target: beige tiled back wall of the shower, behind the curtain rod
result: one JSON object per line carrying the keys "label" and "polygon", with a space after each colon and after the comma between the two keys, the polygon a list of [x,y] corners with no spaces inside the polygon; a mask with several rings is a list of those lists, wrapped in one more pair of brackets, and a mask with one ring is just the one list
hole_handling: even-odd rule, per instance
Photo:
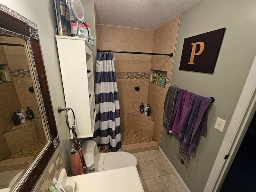
{"label": "beige tiled back wall of the shower, behind the curtain rod", "polygon": [[[153,30],[97,25],[97,48],[132,52],[152,52]],[[150,72],[151,56],[114,53],[116,72]],[[138,80],[138,84],[137,84]],[[145,84],[146,81],[146,84]],[[139,111],[148,98],[149,79],[117,79],[121,128],[127,126],[127,113]],[[134,88],[140,86],[139,91]]]}

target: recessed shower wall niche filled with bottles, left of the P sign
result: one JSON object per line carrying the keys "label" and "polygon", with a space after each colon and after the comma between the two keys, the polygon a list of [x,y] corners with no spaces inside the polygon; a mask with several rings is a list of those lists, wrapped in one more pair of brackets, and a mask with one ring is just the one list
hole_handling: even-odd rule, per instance
{"label": "recessed shower wall niche filled with bottles, left of the P sign", "polygon": [[167,71],[151,70],[149,82],[160,87],[165,87]]}

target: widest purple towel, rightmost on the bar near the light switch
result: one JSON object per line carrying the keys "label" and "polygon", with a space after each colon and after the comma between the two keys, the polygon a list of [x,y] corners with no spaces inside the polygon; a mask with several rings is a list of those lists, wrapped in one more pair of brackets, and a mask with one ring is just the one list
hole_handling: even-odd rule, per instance
{"label": "widest purple towel, rightmost on the bar near the light switch", "polygon": [[196,94],[190,98],[178,137],[178,142],[183,149],[189,149],[190,155],[196,149],[199,134],[206,136],[206,109],[210,102],[210,98]]}

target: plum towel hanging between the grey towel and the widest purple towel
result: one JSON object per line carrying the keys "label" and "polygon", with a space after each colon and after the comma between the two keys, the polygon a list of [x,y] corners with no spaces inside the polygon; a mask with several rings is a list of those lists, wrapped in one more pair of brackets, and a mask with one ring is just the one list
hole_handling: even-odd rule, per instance
{"label": "plum towel hanging between the grey towel and the widest purple towel", "polygon": [[191,95],[191,92],[188,92],[184,89],[181,89],[179,91],[176,105],[174,108],[172,122],[167,129],[167,131],[171,130],[172,134],[176,137],[178,137],[180,134],[181,124],[183,122],[183,118],[188,107]]}

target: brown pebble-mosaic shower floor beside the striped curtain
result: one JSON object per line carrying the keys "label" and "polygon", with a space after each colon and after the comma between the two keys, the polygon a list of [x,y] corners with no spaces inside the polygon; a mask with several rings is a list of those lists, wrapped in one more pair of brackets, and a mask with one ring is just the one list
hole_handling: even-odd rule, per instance
{"label": "brown pebble-mosaic shower floor beside the striped curtain", "polygon": [[130,129],[121,129],[121,145],[142,143],[154,141],[151,137],[147,137],[141,133],[136,133]]}

